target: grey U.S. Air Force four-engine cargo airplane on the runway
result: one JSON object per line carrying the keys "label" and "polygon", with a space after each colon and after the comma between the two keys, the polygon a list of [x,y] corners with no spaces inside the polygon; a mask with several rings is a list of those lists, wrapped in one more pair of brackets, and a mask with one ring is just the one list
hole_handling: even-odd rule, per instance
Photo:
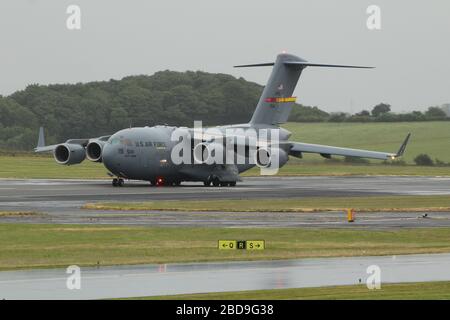
{"label": "grey U.S. Air Force four-engine cargo airplane on the runway", "polygon": [[[223,133],[226,139],[239,135],[245,137],[246,129],[275,130],[278,141],[272,147],[276,148],[277,152],[273,154],[276,154],[276,162],[279,167],[286,164],[289,156],[301,158],[303,153],[316,153],[325,158],[336,155],[380,160],[396,159],[403,155],[410,134],[406,136],[396,153],[389,153],[289,141],[291,133],[279,126],[288,119],[295,102],[292,93],[306,67],[369,67],[310,63],[286,53],[279,54],[275,62],[235,67],[258,66],[273,66],[269,81],[250,122],[215,127],[216,131]],[[207,164],[194,161],[194,163],[176,164],[171,159],[171,152],[179,141],[173,141],[171,137],[177,129],[179,128],[166,125],[135,127],[120,130],[111,136],[70,139],[61,144],[45,146],[43,128],[41,128],[35,151],[52,151],[56,162],[62,165],[78,164],[85,158],[93,162],[101,162],[113,178],[113,186],[122,186],[124,179],[149,181],[152,185],[179,185],[182,181],[202,181],[205,186],[211,184],[213,186],[235,186],[236,182],[240,181],[239,173],[255,165],[270,167],[273,160],[272,155],[268,152],[267,144],[263,146],[257,143],[254,162]],[[181,129],[188,134],[193,133],[192,128]],[[211,146],[217,147],[218,143],[213,140],[211,137],[202,138],[202,152],[205,150],[212,152],[209,150]],[[245,148],[244,157],[248,158],[250,157],[248,146]],[[236,151],[236,149],[234,150]],[[262,154],[265,154],[265,157]]]}

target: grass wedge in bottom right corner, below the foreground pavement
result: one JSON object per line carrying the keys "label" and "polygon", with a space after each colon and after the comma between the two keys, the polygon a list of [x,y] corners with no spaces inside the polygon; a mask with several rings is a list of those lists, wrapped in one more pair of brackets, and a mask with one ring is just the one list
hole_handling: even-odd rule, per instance
{"label": "grass wedge in bottom right corner, below the foreground pavement", "polygon": [[379,290],[365,285],[274,289],[240,292],[142,297],[145,300],[448,300],[450,282],[382,284]]}

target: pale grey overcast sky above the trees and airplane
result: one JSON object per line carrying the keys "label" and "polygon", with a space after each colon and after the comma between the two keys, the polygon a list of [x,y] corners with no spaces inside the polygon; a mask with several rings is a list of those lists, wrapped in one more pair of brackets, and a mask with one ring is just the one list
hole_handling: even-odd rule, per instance
{"label": "pale grey overcast sky above the trees and airplane", "polygon": [[[81,30],[66,9],[81,8]],[[381,8],[381,30],[366,9]],[[450,102],[448,0],[2,0],[0,94],[28,84],[76,83],[202,70],[265,84],[286,50],[318,63],[375,70],[308,68],[297,101],[357,112],[383,101],[396,112]]]}

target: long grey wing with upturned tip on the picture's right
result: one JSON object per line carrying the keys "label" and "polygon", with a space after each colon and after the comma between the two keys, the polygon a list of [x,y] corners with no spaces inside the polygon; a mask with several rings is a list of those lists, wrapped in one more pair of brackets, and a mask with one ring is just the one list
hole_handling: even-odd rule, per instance
{"label": "long grey wing with upturned tip on the picture's right", "polygon": [[333,146],[326,146],[320,144],[309,144],[301,142],[288,142],[290,143],[289,154],[295,157],[301,157],[302,153],[318,153],[322,157],[331,158],[332,155],[336,156],[347,156],[347,157],[358,157],[358,158],[369,158],[369,159],[379,159],[379,160],[393,160],[401,157],[405,152],[406,145],[411,134],[409,133],[399,150],[396,153],[389,152],[378,152],[362,149],[351,149],[351,148],[340,148]]}

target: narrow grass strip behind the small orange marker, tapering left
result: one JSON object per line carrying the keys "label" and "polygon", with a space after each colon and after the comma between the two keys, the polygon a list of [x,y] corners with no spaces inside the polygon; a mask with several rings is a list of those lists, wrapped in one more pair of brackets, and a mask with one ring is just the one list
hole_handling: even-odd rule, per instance
{"label": "narrow grass strip behind the small orange marker, tapering left", "polygon": [[450,211],[450,196],[302,197],[288,199],[158,200],[88,203],[93,210],[169,210],[218,212]]}

